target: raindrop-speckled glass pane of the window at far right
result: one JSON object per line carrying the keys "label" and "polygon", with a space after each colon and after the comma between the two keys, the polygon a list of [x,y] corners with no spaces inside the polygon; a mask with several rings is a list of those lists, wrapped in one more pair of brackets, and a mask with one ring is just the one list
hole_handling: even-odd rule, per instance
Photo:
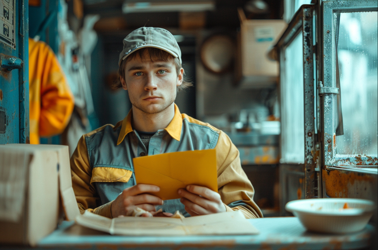
{"label": "raindrop-speckled glass pane of the window at far right", "polygon": [[378,152],[377,12],[340,14],[338,62],[344,135],[336,154]]}

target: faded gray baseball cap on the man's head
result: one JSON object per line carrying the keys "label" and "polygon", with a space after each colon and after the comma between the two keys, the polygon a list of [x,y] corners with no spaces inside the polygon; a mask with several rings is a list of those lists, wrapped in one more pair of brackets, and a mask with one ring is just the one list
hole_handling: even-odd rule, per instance
{"label": "faded gray baseball cap on the man's head", "polygon": [[123,50],[119,54],[118,65],[136,50],[145,47],[159,48],[167,51],[181,62],[181,50],[175,37],[162,28],[142,27],[132,31],[123,39]]}

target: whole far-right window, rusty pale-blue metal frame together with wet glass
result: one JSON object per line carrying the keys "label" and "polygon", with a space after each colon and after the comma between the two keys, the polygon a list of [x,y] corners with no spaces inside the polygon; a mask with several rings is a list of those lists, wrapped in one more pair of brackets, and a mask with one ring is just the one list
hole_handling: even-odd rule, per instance
{"label": "whole far-right window, rusty pale-blue metal frame together with wet glass", "polygon": [[[327,1],[322,39],[324,164],[377,165],[377,3]],[[341,100],[341,102],[340,102]],[[358,169],[356,169],[358,170]]]}

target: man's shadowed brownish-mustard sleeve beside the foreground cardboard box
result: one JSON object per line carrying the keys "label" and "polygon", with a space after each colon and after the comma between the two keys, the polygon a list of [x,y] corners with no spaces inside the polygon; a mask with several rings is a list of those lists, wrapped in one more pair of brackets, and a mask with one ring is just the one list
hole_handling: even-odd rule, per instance
{"label": "man's shadowed brownish-mustard sleeve beside the foreground cardboard box", "polygon": [[80,213],[89,210],[95,214],[112,218],[110,210],[112,202],[98,206],[100,197],[98,196],[95,187],[91,184],[92,167],[89,163],[87,144],[85,143],[84,135],[77,143],[77,147],[71,156],[70,164],[72,187]]}

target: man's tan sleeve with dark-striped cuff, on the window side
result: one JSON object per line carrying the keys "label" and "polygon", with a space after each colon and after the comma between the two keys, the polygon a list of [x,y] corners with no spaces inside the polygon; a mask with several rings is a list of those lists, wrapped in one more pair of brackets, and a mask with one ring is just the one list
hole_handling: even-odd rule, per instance
{"label": "man's tan sleeve with dark-striped cuff, on the window side", "polygon": [[217,145],[218,193],[226,211],[240,210],[246,218],[262,217],[260,208],[253,201],[254,188],[240,164],[239,150],[223,131]]}

